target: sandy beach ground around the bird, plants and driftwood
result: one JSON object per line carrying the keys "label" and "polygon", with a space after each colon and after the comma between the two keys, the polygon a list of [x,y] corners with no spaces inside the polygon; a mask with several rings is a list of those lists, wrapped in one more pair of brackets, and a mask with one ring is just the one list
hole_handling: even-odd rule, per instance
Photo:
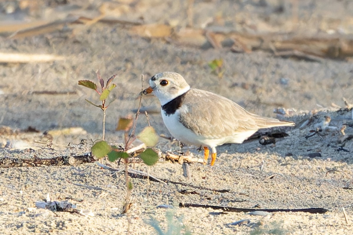
{"label": "sandy beach ground around the bird, plants and driftwood", "polygon": [[[130,3],[130,8],[120,13],[121,18],[143,17],[147,23],[173,23],[176,28],[187,25],[184,1],[137,2]],[[330,4],[326,4],[328,2]],[[4,3],[1,4],[4,7]],[[246,25],[263,26],[265,22],[268,26],[265,29],[269,31],[286,32],[293,20],[291,6],[292,1],[195,1],[193,27],[201,27],[213,18],[218,20],[214,21],[215,25],[237,28],[239,25],[234,22],[243,19]],[[283,7],[283,12],[275,13],[276,9],[281,9],[279,7]],[[94,6],[85,10],[92,11],[92,8]],[[341,33],[353,32],[347,23],[351,22],[348,19],[353,11],[350,1],[312,1],[311,5],[300,3],[298,9],[298,30],[315,32],[333,28]],[[33,14],[27,16],[26,13]],[[54,17],[46,13],[32,9],[18,10],[14,14],[22,16],[23,20]],[[2,13],[1,19],[11,16]],[[73,34],[74,29],[77,31]],[[96,101],[96,94],[77,84],[78,80],[95,81],[97,69],[103,78],[117,75],[114,81],[117,88],[113,92],[116,100],[107,111],[106,139],[110,143],[123,142],[122,132],[115,131],[115,127],[119,117],[134,115],[141,75],[144,75],[146,87],[150,76],[161,71],[178,72],[192,87],[224,95],[260,115],[275,117],[275,108],[289,109],[290,115],[281,118],[294,120],[297,126],[284,129],[289,136],[277,139],[274,145],[262,146],[253,140],[220,146],[214,167],[190,164],[191,179],[183,176],[181,165],[161,159],[150,169],[155,177],[229,191],[220,193],[151,182],[147,197],[146,180],[132,179],[133,204],[129,218],[121,214],[125,197],[125,179],[121,172],[113,174],[95,163],[2,168],[0,234],[126,234],[128,231],[129,234],[156,234],[148,221],[155,221],[166,230],[168,213],[172,214],[176,227],[183,227],[182,234],[353,233],[353,116],[351,109],[338,108],[346,107],[343,98],[353,102],[352,60],[323,58],[321,62],[312,62],[275,57],[265,51],[234,53],[229,48],[199,48],[144,38],[132,35],[129,29],[124,24],[96,23],[90,27],[70,25],[59,31],[17,39],[2,34],[2,52],[56,54],[64,56],[65,60],[0,64],[0,125],[6,126],[1,128],[0,157],[88,153],[90,140],[101,138],[102,114],[84,101]],[[211,74],[208,66],[208,62],[219,58],[223,59],[225,69],[222,79]],[[50,94],[52,92],[56,94]],[[154,112],[159,109],[158,100],[145,97],[143,109],[149,111],[150,123],[158,134],[169,136],[160,114]],[[331,121],[325,123],[324,116],[330,116]],[[146,125],[147,120],[141,115],[137,132]],[[345,135],[341,131],[343,125]],[[30,126],[39,132],[26,132]],[[77,129],[64,132],[65,128]],[[322,131],[315,134],[317,128]],[[50,130],[59,130],[53,134],[52,148],[35,143],[46,142],[48,139],[43,132]],[[88,144],[79,144],[82,139],[88,140]],[[163,139],[157,147],[163,151],[179,149],[176,142]],[[190,154],[202,155],[195,149],[191,149]],[[123,169],[115,163],[113,167]],[[143,164],[136,164],[134,168],[147,171]],[[182,194],[183,190],[196,193]],[[100,197],[102,192],[108,194]],[[94,216],[54,213],[46,209],[31,211],[29,208],[43,201],[47,193],[52,200],[68,199],[78,209],[92,211]],[[213,209],[179,208],[180,202],[262,209],[319,207],[329,211],[325,214],[274,212],[263,217],[243,212],[222,214]],[[157,208],[162,204],[172,208]],[[348,223],[342,208],[347,212]],[[250,219],[250,222],[231,225],[240,219]]]}

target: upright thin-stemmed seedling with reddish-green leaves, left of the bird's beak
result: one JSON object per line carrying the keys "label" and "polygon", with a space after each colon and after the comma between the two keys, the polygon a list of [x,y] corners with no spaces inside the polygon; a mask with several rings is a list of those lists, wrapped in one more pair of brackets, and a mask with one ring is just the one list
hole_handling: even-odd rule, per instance
{"label": "upright thin-stemmed seedling with reddish-green leaves, left of the bird's beak", "polygon": [[106,132],[106,110],[108,109],[108,106],[115,100],[112,100],[109,102],[108,105],[106,105],[106,100],[110,94],[110,92],[116,87],[115,84],[112,84],[114,78],[116,75],[111,76],[108,80],[107,80],[107,84],[104,86],[104,80],[101,78],[101,75],[99,74],[99,71],[96,72],[97,74],[97,79],[99,81],[99,85],[101,87],[100,91],[98,91],[98,86],[97,84],[95,84],[94,82],[90,81],[90,80],[80,80],[78,81],[78,85],[90,88],[92,90],[95,90],[99,95],[99,100],[102,101],[101,105],[96,105],[93,102],[89,101],[88,99],[85,99],[88,103],[90,103],[93,106],[96,106],[98,108],[100,108],[101,110],[103,110],[103,136],[102,136],[102,140],[104,140],[105,137],[105,132]]}

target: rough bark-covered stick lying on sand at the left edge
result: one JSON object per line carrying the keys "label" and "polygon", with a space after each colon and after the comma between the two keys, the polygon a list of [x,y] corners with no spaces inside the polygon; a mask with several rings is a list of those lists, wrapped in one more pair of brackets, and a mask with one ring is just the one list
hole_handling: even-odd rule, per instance
{"label": "rough bark-covered stick lying on sand at the left edge", "polygon": [[97,161],[97,159],[95,159],[95,157],[90,153],[80,156],[59,156],[53,158],[34,157],[29,159],[19,159],[14,157],[0,157],[0,168],[62,165],[70,166],[95,161]]}

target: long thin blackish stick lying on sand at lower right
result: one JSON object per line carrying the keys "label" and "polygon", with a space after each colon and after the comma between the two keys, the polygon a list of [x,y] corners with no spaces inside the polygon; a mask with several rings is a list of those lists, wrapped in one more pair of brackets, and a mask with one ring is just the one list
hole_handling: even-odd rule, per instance
{"label": "long thin blackish stick lying on sand at lower right", "polygon": [[304,208],[304,209],[255,209],[255,208],[234,208],[228,206],[212,206],[212,205],[200,205],[190,203],[179,203],[179,207],[201,207],[211,208],[214,210],[223,210],[227,212],[252,212],[252,211],[266,211],[266,212],[307,212],[312,214],[324,214],[328,209],[324,208]]}

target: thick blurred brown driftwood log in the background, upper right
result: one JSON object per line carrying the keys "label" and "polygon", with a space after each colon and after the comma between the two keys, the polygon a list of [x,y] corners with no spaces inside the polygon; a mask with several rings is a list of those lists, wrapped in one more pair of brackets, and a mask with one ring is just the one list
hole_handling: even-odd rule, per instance
{"label": "thick blurred brown driftwood log in the background, upper right", "polygon": [[[232,41],[231,50],[233,52],[265,50],[273,52],[276,56],[296,57],[319,62],[324,57],[344,59],[353,56],[353,38],[351,35],[328,35],[326,33],[305,35],[295,31],[251,34],[227,27],[208,27],[204,30],[189,29],[189,31],[191,31],[189,34],[193,35],[192,38],[203,38],[203,40],[199,40],[199,43],[195,44],[199,47],[204,45],[204,40],[207,40],[216,49],[224,47],[223,44],[225,42]],[[175,34],[175,37],[172,35],[172,38],[169,39],[170,42],[187,44],[183,40],[184,31],[177,31]],[[189,41],[192,42],[192,38]]]}

